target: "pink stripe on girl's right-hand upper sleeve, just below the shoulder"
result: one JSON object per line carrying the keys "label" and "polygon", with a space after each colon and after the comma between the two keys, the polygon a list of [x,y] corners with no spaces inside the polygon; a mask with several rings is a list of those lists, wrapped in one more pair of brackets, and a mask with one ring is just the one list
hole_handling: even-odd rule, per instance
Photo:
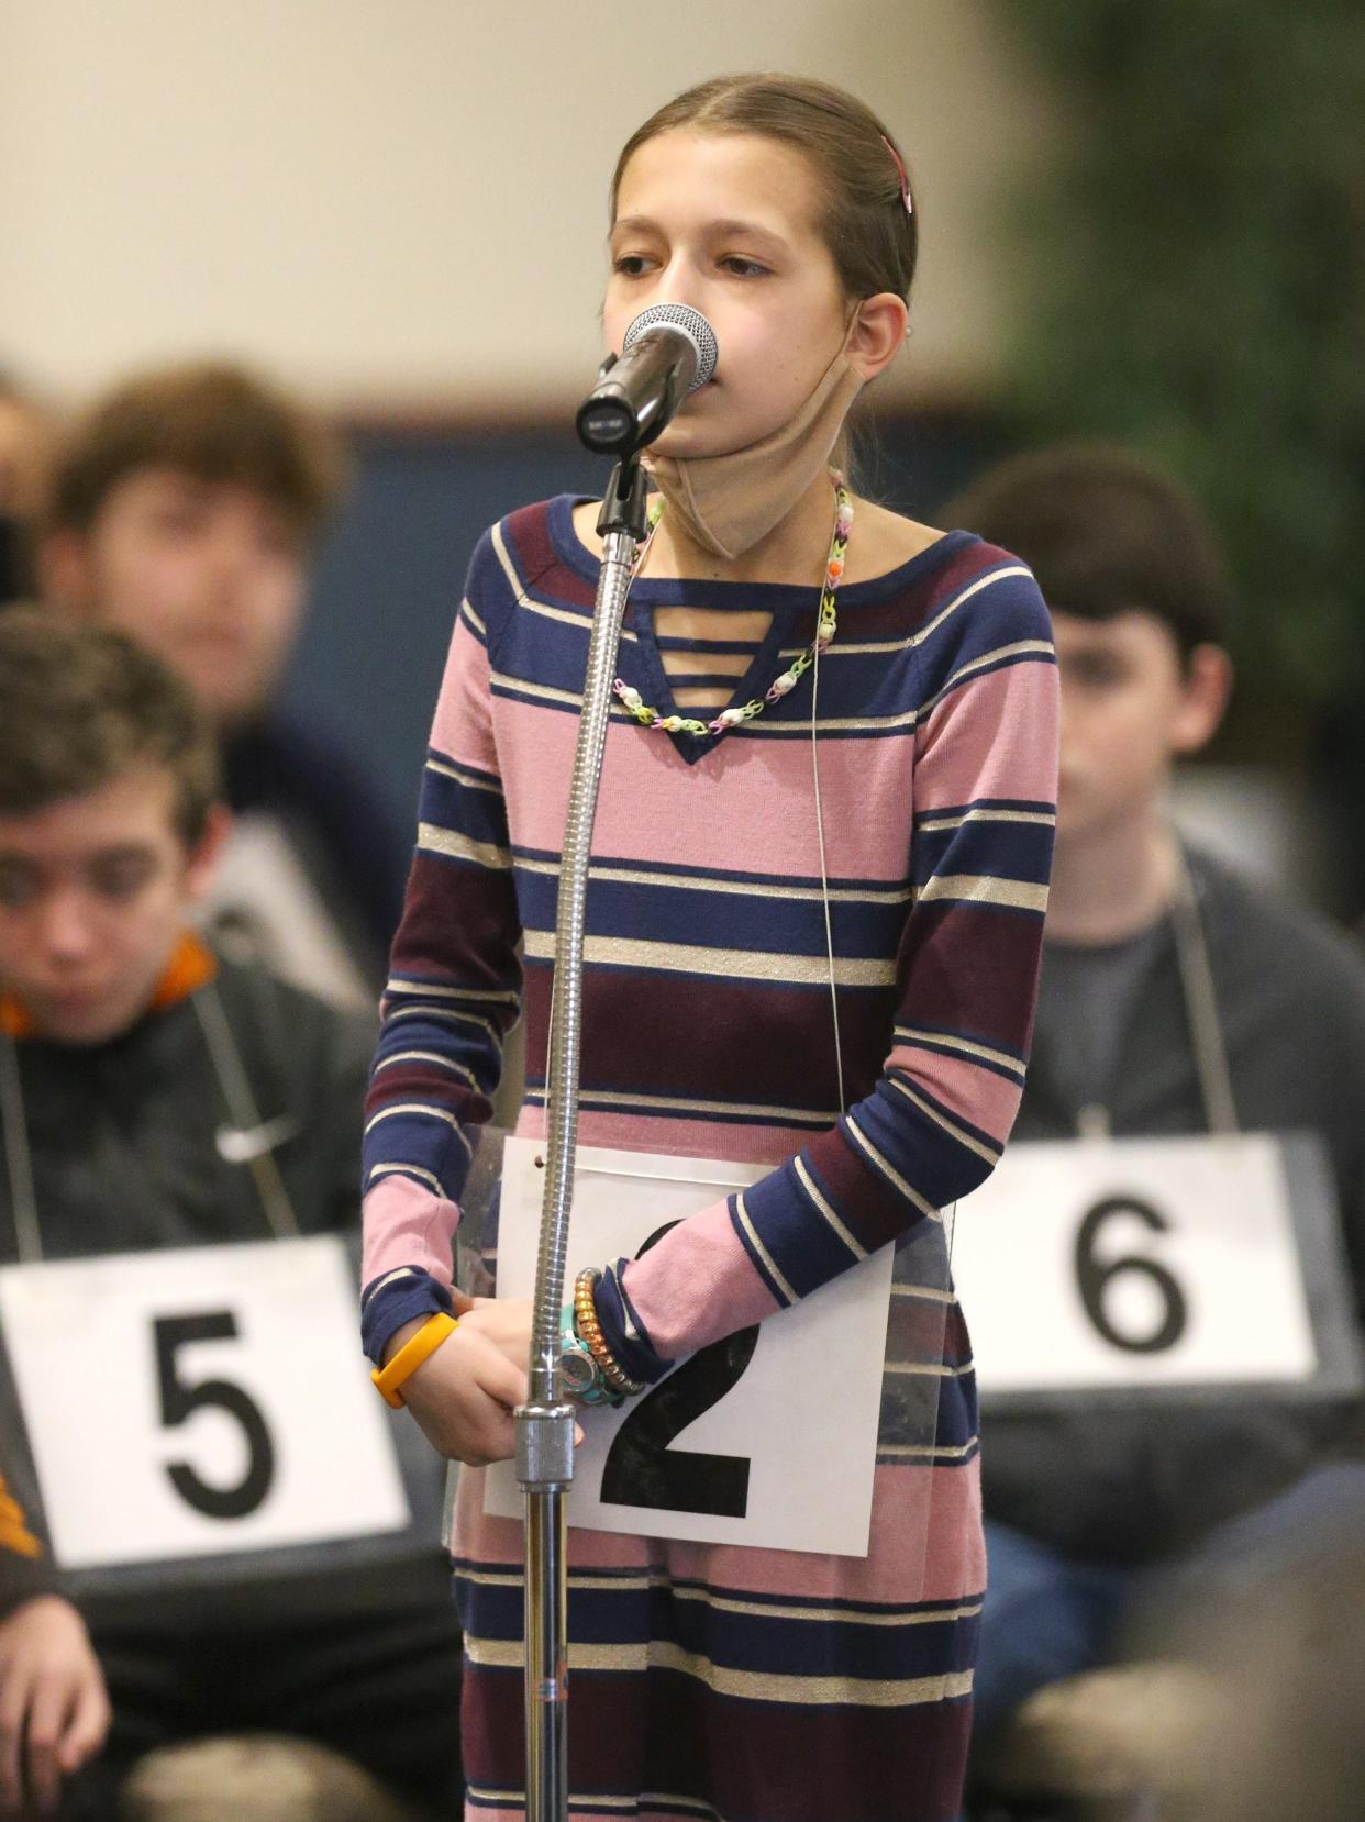
{"label": "pink stripe on girl's right-hand upper sleeve, just below the shoulder", "polygon": [[917,811],[971,798],[1057,796],[1057,667],[1017,663],[953,691],[929,716]]}

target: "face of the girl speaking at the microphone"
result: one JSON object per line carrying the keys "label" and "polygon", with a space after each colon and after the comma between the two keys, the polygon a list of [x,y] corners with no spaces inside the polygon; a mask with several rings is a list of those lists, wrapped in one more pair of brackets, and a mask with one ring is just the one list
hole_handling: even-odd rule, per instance
{"label": "face of the girl speaking at the microphone", "polygon": [[691,304],[720,343],[716,375],[654,443],[662,456],[724,456],[785,425],[844,346],[853,302],[818,230],[818,179],[780,140],[660,133],[621,175],[603,304],[621,352],[649,304]]}

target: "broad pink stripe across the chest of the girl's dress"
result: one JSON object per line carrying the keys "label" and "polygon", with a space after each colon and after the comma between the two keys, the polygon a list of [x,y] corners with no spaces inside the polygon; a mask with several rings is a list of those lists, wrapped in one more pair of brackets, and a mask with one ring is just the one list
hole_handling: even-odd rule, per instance
{"label": "broad pink stripe across the chest of the girl's dress", "polygon": [[[530,703],[494,703],[512,842],[559,853],[578,720]],[[680,773],[687,776],[680,780]],[[683,785],[680,789],[680,785]],[[840,878],[909,873],[911,778],[900,740],[820,747],[826,862]],[[802,875],[820,873],[804,740],[733,740],[687,767],[671,740],[612,722],[592,838],[614,860]],[[871,869],[871,871],[869,871]]]}

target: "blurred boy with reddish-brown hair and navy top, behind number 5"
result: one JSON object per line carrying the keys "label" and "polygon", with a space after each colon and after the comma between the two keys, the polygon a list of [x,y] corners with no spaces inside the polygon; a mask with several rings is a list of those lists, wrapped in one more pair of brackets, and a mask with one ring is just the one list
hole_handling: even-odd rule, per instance
{"label": "blurred boy with reddish-brown hair and navy top, behind number 5", "polygon": [[405,833],[348,742],[279,691],[339,454],[235,366],[137,375],[58,452],[38,570],[47,599],[129,632],[199,692],[237,813],[213,913],[248,953],[372,1006],[406,873]]}

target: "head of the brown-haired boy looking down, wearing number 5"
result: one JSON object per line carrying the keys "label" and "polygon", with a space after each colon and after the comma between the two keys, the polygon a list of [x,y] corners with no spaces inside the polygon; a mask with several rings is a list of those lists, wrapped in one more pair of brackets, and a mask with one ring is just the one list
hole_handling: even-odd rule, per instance
{"label": "head of the brown-haired boy looking down, wearing number 5", "polygon": [[0,993],[102,1044],[153,1004],[228,824],[191,689],[126,634],[0,616]]}

